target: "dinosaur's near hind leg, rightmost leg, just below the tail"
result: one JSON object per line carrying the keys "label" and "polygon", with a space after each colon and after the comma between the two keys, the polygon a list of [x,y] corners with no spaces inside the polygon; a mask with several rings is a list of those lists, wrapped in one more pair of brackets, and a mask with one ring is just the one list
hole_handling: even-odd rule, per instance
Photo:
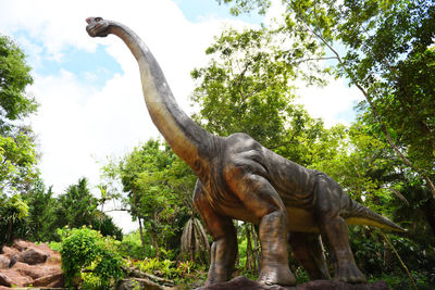
{"label": "dinosaur's near hind leg, rightmost leg, just below the tail", "polygon": [[330,248],[331,260],[334,263],[335,279],[345,282],[365,282],[364,275],[355,263],[349,245],[348,227],[339,216],[339,197],[341,188],[327,177],[319,177],[315,192],[316,219],[322,239]]}

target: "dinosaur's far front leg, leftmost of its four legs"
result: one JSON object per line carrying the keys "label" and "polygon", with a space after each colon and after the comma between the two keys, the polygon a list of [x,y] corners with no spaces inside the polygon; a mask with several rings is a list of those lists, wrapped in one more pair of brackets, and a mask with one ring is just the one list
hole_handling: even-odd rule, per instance
{"label": "dinosaur's far front leg, leftmost of its four legs", "polygon": [[233,220],[216,213],[203,194],[199,181],[195,188],[194,205],[202,223],[213,238],[210,254],[210,268],[206,285],[229,280],[237,256],[237,231]]}

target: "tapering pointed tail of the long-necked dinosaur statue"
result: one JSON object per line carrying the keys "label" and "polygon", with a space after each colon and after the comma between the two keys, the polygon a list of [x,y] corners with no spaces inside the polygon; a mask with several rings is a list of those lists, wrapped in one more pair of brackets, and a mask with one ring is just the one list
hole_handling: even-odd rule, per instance
{"label": "tapering pointed tail of the long-necked dinosaur statue", "polygon": [[368,207],[350,200],[348,209],[343,214],[348,225],[366,225],[394,231],[408,231],[386,217],[369,210]]}

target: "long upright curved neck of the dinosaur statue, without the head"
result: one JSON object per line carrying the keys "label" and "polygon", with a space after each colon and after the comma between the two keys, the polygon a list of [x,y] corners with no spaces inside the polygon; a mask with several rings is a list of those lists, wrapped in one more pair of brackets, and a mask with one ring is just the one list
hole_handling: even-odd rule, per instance
{"label": "long upright curved neck of the dinosaur statue, without the head", "polygon": [[122,24],[112,22],[109,29],[127,45],[139,64],[144,98],[152,122],[174,152],[195,171],[200,153],[208,152],[213,135],[178,106],[160,65],[144,41]]}

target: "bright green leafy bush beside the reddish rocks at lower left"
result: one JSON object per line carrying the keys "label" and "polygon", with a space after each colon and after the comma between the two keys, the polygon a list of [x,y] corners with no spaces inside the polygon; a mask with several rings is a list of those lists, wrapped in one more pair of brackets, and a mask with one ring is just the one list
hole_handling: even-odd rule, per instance
{"label": "bright green leafy bush beside the reddish rocks at lower left", "polygon": [[115,251],[114,240],[86,227],[60,235],[63,236],[60,252],[66,286],[74,286],[79,278],[84,288],[108,289],[123,277],[123,261]]}

